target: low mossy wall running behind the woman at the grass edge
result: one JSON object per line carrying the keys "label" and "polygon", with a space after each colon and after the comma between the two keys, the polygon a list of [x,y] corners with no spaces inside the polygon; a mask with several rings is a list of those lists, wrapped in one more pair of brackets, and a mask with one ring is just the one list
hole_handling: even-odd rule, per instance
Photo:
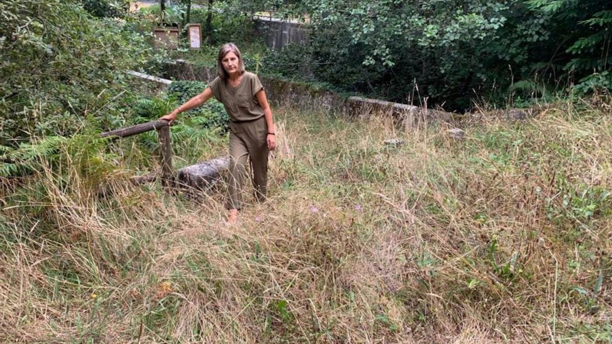
{"label": "low mossy wall running behind the woman at the grass edge", "polygon": [[[176,60],[166,65],[166,78],[174,80],[212,81],[216,69]],[[406,121],[409,125],[419,125],[430,120],[449,122],[451,114],[444,111],[415,107],[414,105],[386,102],[362,97],[342,97],[341,95],[315,88],[307,83],[283,80],[278,77],[259,75],[271,103],[300,109],[324,110],[347,116],[392,116]]]}

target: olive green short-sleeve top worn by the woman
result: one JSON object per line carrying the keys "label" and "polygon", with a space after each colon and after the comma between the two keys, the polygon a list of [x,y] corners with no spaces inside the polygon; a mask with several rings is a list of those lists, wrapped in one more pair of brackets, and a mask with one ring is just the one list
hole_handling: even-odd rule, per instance
{"label": "olive green short-sleeve top worn by the woman", "polygon": [[255,94],[264,88],[256,74],[244,72],[242,80],[236,87],[232,87],[227,80],[217,77],[212,80],[209,87],[215,99],[223,103],[231,121],[253,121],[264,115],[264,110],[255,97]]}

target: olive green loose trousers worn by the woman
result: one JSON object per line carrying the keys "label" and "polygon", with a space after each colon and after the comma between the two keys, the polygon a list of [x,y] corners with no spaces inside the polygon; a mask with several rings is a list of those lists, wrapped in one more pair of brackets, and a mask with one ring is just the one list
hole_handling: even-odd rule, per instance
{"label": "olive green loose trousers worn by the woman", "polygon": [[255,199],[266,199],[267,123],[264,117],[249,122],[230,122],[230,180],[228,209],[242,209],[242,181],[247,174],[247,158]]}

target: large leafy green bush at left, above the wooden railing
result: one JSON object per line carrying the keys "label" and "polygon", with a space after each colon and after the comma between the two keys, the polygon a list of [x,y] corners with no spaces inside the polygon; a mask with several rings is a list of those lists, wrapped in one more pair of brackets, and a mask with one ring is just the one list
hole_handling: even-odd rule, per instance
{"label": "large leafy green bush at left, above the wooden railing", "polygon": [[0,145],[70,135],[88,115],[103,128],[124,122],[124,105],[133,95],[124,72],[154,53],[143,34],[132,30],[132,19],[96,18],[83,7],[92,3],[2,2]]}

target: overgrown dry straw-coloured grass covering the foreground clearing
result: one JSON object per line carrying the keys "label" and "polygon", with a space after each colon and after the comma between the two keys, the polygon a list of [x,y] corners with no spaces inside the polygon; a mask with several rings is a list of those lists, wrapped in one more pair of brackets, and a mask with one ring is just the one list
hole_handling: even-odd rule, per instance
{"label": "overgrown dry straw-coloured grass covering the foreground clearing", "polygon": [[6,189],[0,340],[612,340],[609,107],[485,116],[461,141],[381,118],[277,121],[269,201],[236,226],[222,193],[196,204],[121,168],[103,176],[112,196],[67,166]]}

